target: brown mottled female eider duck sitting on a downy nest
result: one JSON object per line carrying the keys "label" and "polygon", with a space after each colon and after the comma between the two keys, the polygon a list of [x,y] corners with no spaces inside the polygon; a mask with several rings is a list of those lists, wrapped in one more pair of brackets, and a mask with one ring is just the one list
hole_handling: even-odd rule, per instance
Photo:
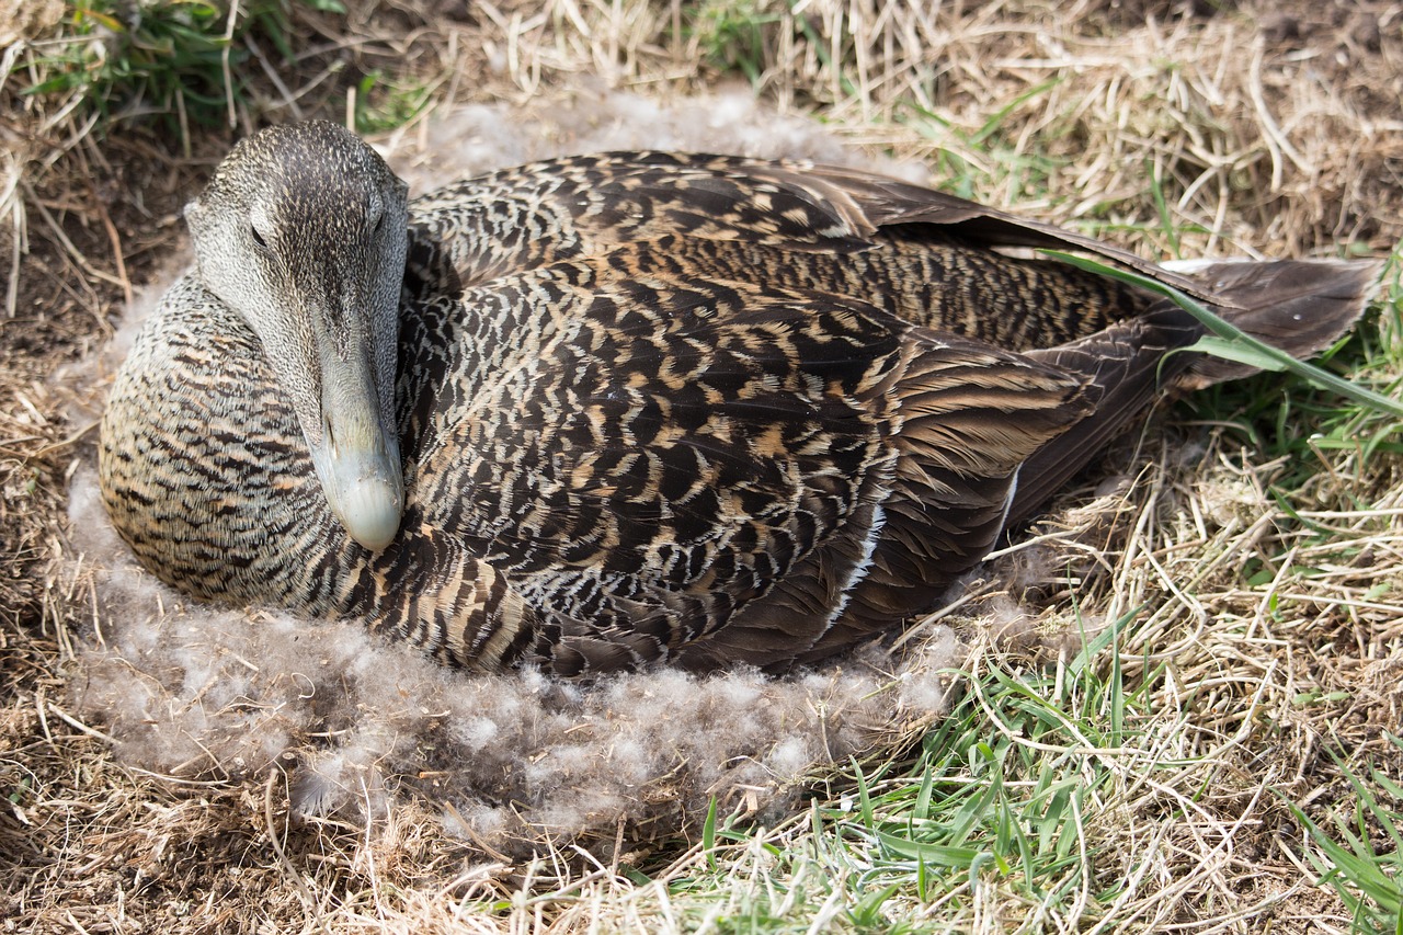
{"label": "brown mottled female eider duck sitting on a downy nest", "polygon": [[540,161],[407,199],[325,122],[236,145],[116,376],[100,477],[201,598],[480,670],[783,670],[937,608],[1166,389],[1173,285],[1294,355],[1375,264],[1179,277],[849,168]]}

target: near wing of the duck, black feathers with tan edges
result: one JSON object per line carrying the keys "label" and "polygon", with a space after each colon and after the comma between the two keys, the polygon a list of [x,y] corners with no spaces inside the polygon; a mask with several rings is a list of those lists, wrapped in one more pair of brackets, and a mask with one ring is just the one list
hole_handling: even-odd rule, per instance
{"label": "near wing of the duck, black feathers with tan edges", "polygon": [[429,535],[391,545],[379,574],[457,580],[443,566],[474,556],[491,571],[466,577],[497,581],[411,588],[401,612],[419,619],[400,629],[417,642],[561,674],[791,658],[867,576],[894,487],[922,486],[916,573],[939,591],[998,536],[1017,466],[1094,403],[1082,378],[859,299],[687,275],[673,246],[405,317],[401,345],[452,352],[401,366],[405,528]]}

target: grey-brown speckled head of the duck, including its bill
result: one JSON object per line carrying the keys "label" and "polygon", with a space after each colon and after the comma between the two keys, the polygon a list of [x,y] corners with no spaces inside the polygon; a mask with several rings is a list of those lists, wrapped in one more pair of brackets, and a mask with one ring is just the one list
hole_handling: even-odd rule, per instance
{"label": "grey-brown speckled head of the duck, including its bill", "polygon": [[185,220],[205,288],[262,341],[333,512],[383,549],[404,511],[394,371],[405,184],[334,124],[274,126],[230,150]]}

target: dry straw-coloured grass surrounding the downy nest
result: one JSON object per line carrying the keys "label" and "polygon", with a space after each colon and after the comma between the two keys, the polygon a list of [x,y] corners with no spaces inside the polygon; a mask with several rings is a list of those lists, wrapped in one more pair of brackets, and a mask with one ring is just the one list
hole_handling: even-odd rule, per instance
{"label": "dry straw-coloured grass surrounding the downy nest", "polygon": [[[1146,256],[1351,244],[1386,254],[1403,239],[1399,4],[1207,15],[1148,0],[932,11],[710,0],[696,29],[680,4],[641,0],[504,0],[474,4],[471,21],[431,6],[366,4],[349,25],[299,7],[303,58],[286,66],[271,49],[255,53],[264,79],[236,102],[234,122],[354,111],[348,90],[375,69],[429,88],[446,110],[540,107],[599,83],[668,98],[713,86],[728,62],[779,110],[815,112],[856,146],[922,160],[957,191]],[[73,385],[56,373],[107,341],[114,305],[177,241],[180,201],[227,139],[123,124],[83,133],[69,101],[18,97],[38,66],[32,49],[10,49],[0,69],[7,931],[817,931],[860,928],[863,898],[888,879],[897,889],[874,918],[934,929],[1348,931],[1287,802],[1329,825],[1355,807],[1340,764],[1403,776],[1390,738],[1403,723],[1403,460],[1386,438],[1369,448],[1383,437],[1378,423],[1301,387],[1282,403],[1280,380],[1215,393],[1125,439],[1033,546],[972,585],[984,597],[948,618],[972,647],[962,710],[1007,758],[1013,800],[1054,764],[1086,790],[1062,825],[1076,840],[1079,876],[1066,879],[1078,883],[1055,900],[1028,897],[1017,873],[947,879],[926,898],[909,879],[882,876],[898,862],[864,837],[854,790],[878,813],[906,807],[904,790],[939,755],[920,747],[926,724],[874,751],[861,779],[815,776],[812,811],[723,834],[711,852],[693,816],[690,847],[678,835],[634,849],[636,830],[622,824],[617,847],[558,844],[521,859],[445,834],[424,797],[369,823],[307,820],[290,816],[278,769],[173,782],[122,765],[104,723],[70,710],[83,677],[73,642],[88,639],[100,608],[65,571],[66,484],[91,458],[91,437],[69,417]],[[375,107],[393,102],[384,87],[372,90]],[[1395,307],[1351,358],[1381,389],[1403,376],[1396,324]],[[1278,404],[1289,406],[1281,424]],[[1078,668],[1078,632],[1132,609],[1114,651]],[[1059,651],[1068,635],[1070,651]],[[1024,695],[995,687],[1044,675],[1034,710],[1066,713],[1035,734],[1028,724],[1044,720],[1019,720]],[[1124,695],[1097,694],[1111,682]],[[979,775],[971,765],[951,782]],[[1365,824],[1386,848],[1386,830]]]}

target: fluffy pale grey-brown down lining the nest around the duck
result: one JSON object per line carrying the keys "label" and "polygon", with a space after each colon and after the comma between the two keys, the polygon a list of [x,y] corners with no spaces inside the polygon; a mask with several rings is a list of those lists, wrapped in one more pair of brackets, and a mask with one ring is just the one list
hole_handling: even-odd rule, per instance
{"label": "fluffy pale grey-brown down lining the nest around the duck", "polygon": [[[387,142],[414,192],[570,152],[713,149],[864,167],[815,125],[748,97],[661,107],[627,94],[567,110],[473,107]],[[890,166],[881,166],[892,171]],[[919,175],[918,175],[919,178]],[[164,289],[153,284],[133,314]],[[93,369],[119,359],[128,323]],[[101,385],[95,392],[101,396]],[[108,524],[95,470],[70,491],[76,574],[93,588],[74,708],[128,764],[189,779],[289,774],[302,814],[363,818],[414,795],[452,834],[495,851],[543,838],[672,833],[704,813],[781,807],[817,768],[946,708],[961,644],[929,626],[791,678],[673,670],[563,684],[535,671],[441,668],[355,625],[202,606],[142,571]]]}

